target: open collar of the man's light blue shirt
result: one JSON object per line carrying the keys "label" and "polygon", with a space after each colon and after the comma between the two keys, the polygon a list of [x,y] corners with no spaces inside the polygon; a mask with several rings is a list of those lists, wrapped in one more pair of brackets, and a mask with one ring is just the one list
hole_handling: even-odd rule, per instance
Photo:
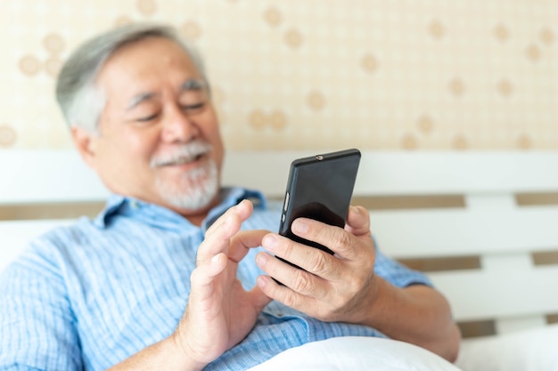
{"label": "open collar of the man's light blue shirt", "polygon": [[[267,209],[266,198],[258,190],[246,190],[240,187],[223,188],[220,191],[220,199],[221,202],[209,210],[207,217],[201,223],[203,230],[207,230],[227,209],[237,205],[243,199],[250,199],[255,209]],[[119,215],[143,219],[145,222],[158,224],[163,228],[183,223],[192,225],[185,217],[166,207],[118,194],[112,194],[107,199],[103,211],[94,219],[94,224],[99,228],[107,228],[112,220]]]}

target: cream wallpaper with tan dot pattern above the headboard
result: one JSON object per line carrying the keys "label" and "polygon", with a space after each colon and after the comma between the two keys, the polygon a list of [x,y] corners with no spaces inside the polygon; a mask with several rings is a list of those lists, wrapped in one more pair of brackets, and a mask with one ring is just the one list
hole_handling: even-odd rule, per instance
{"label": "cream wallpaper with tan dot pattern above the headboard", "polygon": [[198,46],[229,149],[558,149],[555,0],[2,0],[0,149],[70,148],[62,60],[136,20]]}

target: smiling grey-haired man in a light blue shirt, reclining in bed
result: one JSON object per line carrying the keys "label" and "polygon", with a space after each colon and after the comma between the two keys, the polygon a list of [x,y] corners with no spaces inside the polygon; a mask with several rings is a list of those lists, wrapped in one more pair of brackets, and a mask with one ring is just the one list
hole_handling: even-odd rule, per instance
{"label": "smiling grey-haired man in a light blue shirt, reclining in bed", "polygon": [[364,208],[350,208],[344,229],[293,224],[330,255],[269,231],[279,214],[258,192],[220,186],[209,92],[171,28],[114,29],[70,57],[57,98],[112,196],[4,271],[0,369],[242,369],[344,335],[455,359],[446,300],[377,251]]}

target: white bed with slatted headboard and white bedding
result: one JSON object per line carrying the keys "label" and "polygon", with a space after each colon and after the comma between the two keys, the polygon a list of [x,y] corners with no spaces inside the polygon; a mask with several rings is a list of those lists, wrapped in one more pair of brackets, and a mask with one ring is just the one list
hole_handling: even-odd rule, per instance
{"label": "white bed with slatted headboard and white bedding", "polygon": [[[281,205],[291,160],[312,154],[229,152],[223,181]],[[4,151],[0,165],[0,270],[108,195],[73,150]],[[354,203],[386,254],[447,295],[464,335],[455,366],[411,344],[338,338],[254,370],[558,370],[557,152],[364,151]]]}

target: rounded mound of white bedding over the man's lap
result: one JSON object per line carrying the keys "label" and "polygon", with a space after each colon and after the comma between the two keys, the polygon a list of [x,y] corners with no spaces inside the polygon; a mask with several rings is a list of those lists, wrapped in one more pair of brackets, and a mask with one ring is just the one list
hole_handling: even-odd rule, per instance
{"label": "rounded mound of white bedding over the man's lap", "polygon": [[250,368],[250,371],[271,370],[459,371],[459,368],[410,343],[344,336],[291,348]]}

